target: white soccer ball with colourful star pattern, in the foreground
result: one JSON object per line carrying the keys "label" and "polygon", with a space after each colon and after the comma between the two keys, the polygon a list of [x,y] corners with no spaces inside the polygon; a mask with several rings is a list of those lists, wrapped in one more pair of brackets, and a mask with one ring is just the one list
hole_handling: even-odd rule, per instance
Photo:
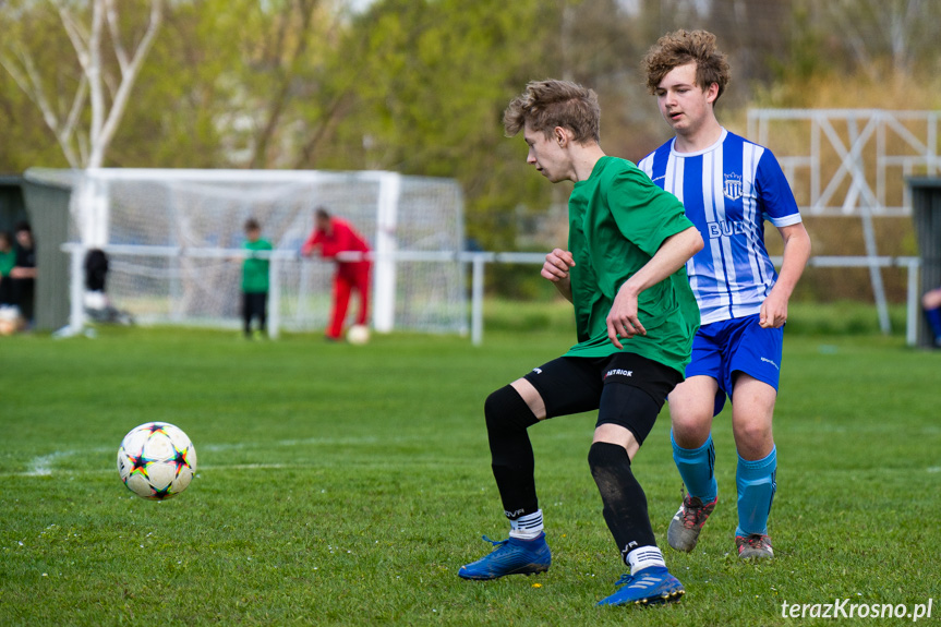
{"label": "white soccer ball with colourful star pattern, in the foreground", "polygon": [[118,472],[137,496],[170,498],[190,485],[196,472],[196,449],[179,426],[147,422],[132,429],[121,442]]}

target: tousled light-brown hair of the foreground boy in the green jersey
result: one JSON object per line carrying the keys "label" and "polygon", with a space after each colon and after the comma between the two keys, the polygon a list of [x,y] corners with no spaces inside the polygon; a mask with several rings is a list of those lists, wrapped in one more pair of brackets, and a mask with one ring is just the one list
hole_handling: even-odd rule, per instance
{"label": "tousled light-brown hair of the foreground boy in the green jersey", "polygon": [[552,135],[553,129],[562,126],[571,131],[572,138],[580,144],[590,140],[601,142],[598,94],[569,81],[530,81],[503,114],[504,130],[509,137],[527,123],[546,137]]}

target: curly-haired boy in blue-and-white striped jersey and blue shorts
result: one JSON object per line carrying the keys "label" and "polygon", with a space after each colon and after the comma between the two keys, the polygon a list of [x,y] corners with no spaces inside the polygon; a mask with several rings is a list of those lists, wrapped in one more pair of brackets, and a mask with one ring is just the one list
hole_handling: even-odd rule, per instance
{"label": "curly-haired boy in blue-and-white striped jersey and blue shorts", "polygon": [[[727,396],[738,450],[738,555],[772,557],[768,516],[777,461],[771,423],[787,301],[810,256],[810,238],[774,155],[729,133],[715,118],[715,101],[728,83],[715,36],[665,35],[643,67],[675,136],[638,166],[683,202],[705,241],[686,266],[702,326],[686,381],[669,395],[673,457],[687,493],[667,542],[692,551],[715,507],[712,419]],[[764,248],[765,219],[784,240],[780,274]]]}

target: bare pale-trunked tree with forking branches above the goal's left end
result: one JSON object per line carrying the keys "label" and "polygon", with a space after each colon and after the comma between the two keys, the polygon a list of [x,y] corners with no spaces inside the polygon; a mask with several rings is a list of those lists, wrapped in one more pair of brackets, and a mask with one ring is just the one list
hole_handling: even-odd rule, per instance
{"label": "bare pale-trunked tree with forking branches above the goal's left end", "polygon": [[[132,50],[124,45],[117,0],[91,0],[91,23],[87,24],[75,14],[74,2],[50,2],[59,14],[81,69],[74,91],[63,94],[61,84],[45,77],[33,53],[22,41],[4,40],[0,45],[0,65],[39,108],[69,165],[73,168],[98,168],[105,162],[144,59],[160,29],[164,0],[149,0],[146,27],[132,45]],[[3,11],[13,9],[0,3],[0,12]],[[106,57],[108,53],[112,58]]]}

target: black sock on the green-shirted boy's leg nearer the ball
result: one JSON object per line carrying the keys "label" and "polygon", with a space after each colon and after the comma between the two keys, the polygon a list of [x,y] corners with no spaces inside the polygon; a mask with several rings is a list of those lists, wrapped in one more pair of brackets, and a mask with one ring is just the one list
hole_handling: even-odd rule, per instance
{"label": "black sock on the green-shirted boy's leg nearer the ball", "polygon": [[484,403],[493,475],[507,518],[515,520],[539,511],[535,496],[535,461],[527,429],[539,422],[512,388],[505,386]]}

